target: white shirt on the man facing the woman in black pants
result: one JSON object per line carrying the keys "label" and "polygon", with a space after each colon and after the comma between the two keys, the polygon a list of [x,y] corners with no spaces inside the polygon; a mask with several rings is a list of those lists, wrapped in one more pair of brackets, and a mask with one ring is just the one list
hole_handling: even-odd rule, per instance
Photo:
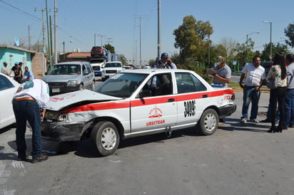
{"label": "white shirt on the man facing the woman in black pants", "polygon": [[246,86],[258,86],[260,80],[265,79],[265,68],[261,65],[255,68],[253,63],[248,63],[244,66],[242,73],[245,73],[244,85]]}

